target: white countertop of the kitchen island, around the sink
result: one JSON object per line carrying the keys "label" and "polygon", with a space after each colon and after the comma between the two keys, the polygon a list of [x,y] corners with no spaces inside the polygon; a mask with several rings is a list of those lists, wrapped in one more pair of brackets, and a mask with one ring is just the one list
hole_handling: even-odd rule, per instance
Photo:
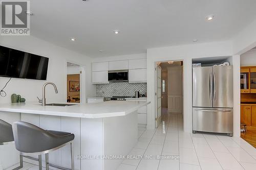
{"label": "white countertop of the kitchen island, around the sink", "polygon": [[108,101],[92,104],[77,104],[73,106],[41,106],[38,103],[27,102],[0,104],[0,111],[68,117],[103,118],[124,116],[147,104],[150,104],[150,102]]}

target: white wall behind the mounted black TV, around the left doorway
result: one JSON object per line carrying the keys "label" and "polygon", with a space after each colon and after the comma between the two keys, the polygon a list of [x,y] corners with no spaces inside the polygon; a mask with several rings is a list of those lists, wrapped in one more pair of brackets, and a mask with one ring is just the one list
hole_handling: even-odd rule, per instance
{"label": "white wall behind the mounted black TV, around the left doorway", "polygon": [[[1,36],[0,45],[49,58],[47,81],[54,82],[59,93],[55,94],[53,87],[49,85],[47,102],[66,101],[67,61],[86,66],[86,95],[95,96],[96,87],[91,84],[91,58],[33,36]],[[8,80],[8,78],[0,78],[1,89]],[[0,96],[0,103],[11,102],[12,93],[22,95],[26,101],[37,101],[36,96],[42,97],[42,85],[47,81],[12,79],[5,88],[7,96],[5,98]]]}

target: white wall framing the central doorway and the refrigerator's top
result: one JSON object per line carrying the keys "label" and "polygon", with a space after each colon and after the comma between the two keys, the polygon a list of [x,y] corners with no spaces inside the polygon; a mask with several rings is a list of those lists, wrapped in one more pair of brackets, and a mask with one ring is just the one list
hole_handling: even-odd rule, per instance
{"label": "white wall framing the central doorway and the refrigerator's top", "polygon": [[155,128],[155,62],[183,60],[183,115],[184,131],[192,131],[192,59],[232,56],[232,42],[196,43],[147,49],[147,128]]}

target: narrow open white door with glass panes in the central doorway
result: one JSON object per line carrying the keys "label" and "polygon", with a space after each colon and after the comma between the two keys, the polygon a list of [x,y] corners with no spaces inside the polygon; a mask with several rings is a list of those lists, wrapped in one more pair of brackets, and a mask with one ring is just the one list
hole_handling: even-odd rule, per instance
{"label": "narrow open white door with glass panes in the central doorway", "polygon": [[161,123],[161,67],[156,66],[156,127]]}

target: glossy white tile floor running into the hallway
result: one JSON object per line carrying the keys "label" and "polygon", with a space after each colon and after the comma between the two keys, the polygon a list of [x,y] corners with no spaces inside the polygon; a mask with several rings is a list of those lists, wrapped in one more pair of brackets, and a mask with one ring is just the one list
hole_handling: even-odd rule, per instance
{"label": "glossy white tile floor running into the hallway", "polygon": [[[256,149],[240,137],[183,132],[180,114],[163,115],[165,126],[138,128],[138,142],[129,155],[171,155],[180,159],[125,159],[117,170],[255,170]],[[23,168],[38,169],[25,163]]]}

